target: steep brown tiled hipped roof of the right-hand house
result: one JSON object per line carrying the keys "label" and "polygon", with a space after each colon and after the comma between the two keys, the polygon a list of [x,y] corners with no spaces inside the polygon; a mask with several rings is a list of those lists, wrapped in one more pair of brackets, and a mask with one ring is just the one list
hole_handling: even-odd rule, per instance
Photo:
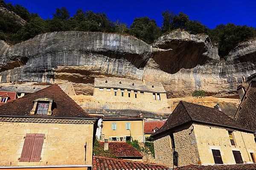
{"label": "steep brown tiled hipped roof of the right-hand house", "polygon": [[195,122],[204,125],[214,125],[219,127],[228,127],[237,130],[245,130],[252,133],[251,130],[246,129],[246,127],[235,122],[233,119],[218,109],[180,101],[175,110],[166,120],[165,124],[159,130],[157,130],[153,136],[189,122]]}

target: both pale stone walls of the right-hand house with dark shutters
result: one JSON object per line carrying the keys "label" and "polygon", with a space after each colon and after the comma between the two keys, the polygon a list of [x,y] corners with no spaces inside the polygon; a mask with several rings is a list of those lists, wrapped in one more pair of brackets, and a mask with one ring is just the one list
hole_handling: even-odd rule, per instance
{"label": "both pale stone walls of the right-hand house with dark shutters", "polygon": [[[175,150],[179,153],[178,165],[215,164],[212,149],[220,150],[223,164],[236,164],[233,150],[240,151],[244,164],[253,163],[250,153],[256,155],[253,133],[233,131],[235,145],[231,145],[227,129],[192,124],[173,133]],[[156,163],[173,166],[173,149],[169,135],[154,140]]]}

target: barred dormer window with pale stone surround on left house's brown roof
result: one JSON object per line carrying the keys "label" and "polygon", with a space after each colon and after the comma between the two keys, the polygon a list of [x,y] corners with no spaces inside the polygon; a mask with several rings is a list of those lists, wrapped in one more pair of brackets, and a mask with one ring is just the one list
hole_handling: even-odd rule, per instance
{"label": "barred dormer window with pale stone surround on left house's brown roof", "polygon": [[53,100],[48,97],[40,97],[34,100],[34,107],[30,111],[31,115],[51,116]]}

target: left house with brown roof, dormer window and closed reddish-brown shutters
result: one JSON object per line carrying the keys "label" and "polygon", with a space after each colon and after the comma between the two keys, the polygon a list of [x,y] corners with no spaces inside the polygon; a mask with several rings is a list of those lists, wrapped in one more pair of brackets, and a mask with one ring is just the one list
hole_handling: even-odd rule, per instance
{"label": "left house with brown roof, dormer window and closed reddish-brown shutters", "polygon": [[0,166],[92,167],[97,118],[58,85],[0,106],[0,126]]}

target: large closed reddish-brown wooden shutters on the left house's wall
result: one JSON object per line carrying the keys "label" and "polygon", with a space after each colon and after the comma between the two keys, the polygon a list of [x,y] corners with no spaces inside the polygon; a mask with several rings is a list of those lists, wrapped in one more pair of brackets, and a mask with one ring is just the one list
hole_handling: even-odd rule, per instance
{"label": "large closed reddish-brown wooden shutters on the left house's wall", "polygon": [[26,134],[20,162],[39,162],[44,143],[44,134]]}

